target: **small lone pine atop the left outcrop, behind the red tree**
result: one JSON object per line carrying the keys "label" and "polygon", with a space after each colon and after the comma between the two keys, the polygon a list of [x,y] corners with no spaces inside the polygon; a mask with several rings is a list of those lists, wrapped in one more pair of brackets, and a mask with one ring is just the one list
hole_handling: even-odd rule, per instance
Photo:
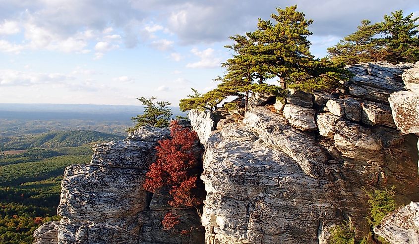
{"label": "small lone pine atop the left outcrop, behind the red tree", "polygon": [[137,98],[144,105],[144,113],[132,117],[131,119],[136,123],[133,128],[127,131],[132,132],[144,125],[151,125],[155,127],[168,127],[169,120],[172,117],[172,110],[167,106],[171,105],[168,101],[157,101],[155,97],[151,98]]}

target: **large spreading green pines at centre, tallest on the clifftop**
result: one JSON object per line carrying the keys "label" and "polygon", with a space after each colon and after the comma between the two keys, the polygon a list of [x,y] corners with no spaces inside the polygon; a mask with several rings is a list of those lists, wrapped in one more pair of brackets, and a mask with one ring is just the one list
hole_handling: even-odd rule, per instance
{"label": "large spreading green pines at centre, tallest on the clifftop", "polygon": [[[308,37],[312,33],[297,5],[277,8],[272,20],[258,20],[257,29],[245,35],[230,37],[232,45],[225,46],[233,51],[232,58],[222,64],[226,68],[217,89],[204,95],[196,90],[193,95],[180,100],[182,111],[203,108],[213,111],[229,96],[245,99],[247,110],[250,93],[284,96],[287,86],[304,91],[334,91],[340,80],[348,79],[347,72],[328,61],[315,59],[310,53]],[[280,86],[268,85],[266,81],[278,78]]]}

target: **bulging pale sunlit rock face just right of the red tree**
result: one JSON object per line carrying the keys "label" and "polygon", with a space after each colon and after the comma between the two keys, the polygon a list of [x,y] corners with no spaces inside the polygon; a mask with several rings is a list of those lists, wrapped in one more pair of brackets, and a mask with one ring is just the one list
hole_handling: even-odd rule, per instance
{"label": "bulging pale sunlit rock face just right of the red tree", "polygon": [[[333,214],[333,205],[327,185],[306,174],[299,159],[315,164],[326,158],[312,139],[263,107],[247,112],[245,121],[226,125],[208,141],[201,176],[206,243],[318,243],[319,220]],[[286,137],[304,140],[297,148]]]}

